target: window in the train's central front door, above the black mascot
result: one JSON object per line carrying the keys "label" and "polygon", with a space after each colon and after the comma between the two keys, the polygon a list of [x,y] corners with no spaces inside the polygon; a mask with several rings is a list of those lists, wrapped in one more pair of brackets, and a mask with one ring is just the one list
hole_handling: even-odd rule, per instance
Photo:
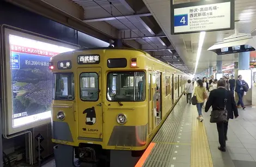
{"label": "window in the train's central front door, above the black mascot", "polygon": [[83,72],[80,75],[80,98],[82,101],[99,99],[99,81],[96,72]]}

